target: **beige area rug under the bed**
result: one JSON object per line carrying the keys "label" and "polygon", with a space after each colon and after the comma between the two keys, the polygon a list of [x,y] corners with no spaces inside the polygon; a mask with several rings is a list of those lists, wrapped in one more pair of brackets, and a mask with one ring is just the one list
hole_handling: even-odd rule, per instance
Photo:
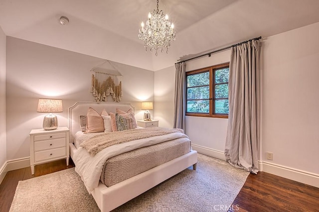
{"label": "beige area rug under the bed", "polygon": [[[115,209],[115,212],[227,211],[249,173],[198,154],[191,167]],[[100,211],[74,168],[19,181],[10,212]]]}

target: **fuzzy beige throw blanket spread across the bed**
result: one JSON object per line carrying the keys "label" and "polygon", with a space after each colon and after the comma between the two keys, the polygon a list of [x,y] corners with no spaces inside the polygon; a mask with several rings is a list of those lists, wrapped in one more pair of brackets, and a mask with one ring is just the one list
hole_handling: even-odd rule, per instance
{"label": "fuzzy beige throw blanket spread across the bed", "polygon": [[116,132],[106,132],[99,134],[87,141],[83,142],[80,146],[85,148],[90,155],[95,156],[101,150],[120,143],[125,143],[133,140],[150,138],[154,136],[165,135],[173,132],[184,133],[182,129],[167,129],[162,127],[142,128],[142,129],[129,129]]}

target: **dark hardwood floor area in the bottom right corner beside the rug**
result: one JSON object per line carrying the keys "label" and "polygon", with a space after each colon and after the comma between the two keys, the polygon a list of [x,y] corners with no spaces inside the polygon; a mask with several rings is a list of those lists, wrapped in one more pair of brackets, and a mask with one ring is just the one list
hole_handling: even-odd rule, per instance
{"label": "dark hardwood floor area in the bottom right corner beside the rug", "polygon": [[259,172],[248,176],[233,205],[248,212],[318,212],[319,188]]}

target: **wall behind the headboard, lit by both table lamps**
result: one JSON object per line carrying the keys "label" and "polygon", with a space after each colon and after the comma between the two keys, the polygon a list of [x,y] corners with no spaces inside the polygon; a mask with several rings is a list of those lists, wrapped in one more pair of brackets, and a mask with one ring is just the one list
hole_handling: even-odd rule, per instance
{"label": "wall behind the headboard, lit by both table lamps", "polygon": [[[29,132],[42,128],[44,113],[37,113],[39,98],[58,98],[63,112],[59,126],[67,126],[67,108],[77,101],[94,101],[91,72],[105,60],[7,37],[6,44],[7,160],[28,157]],[[132,103],[143,118],[141,101],[154,99],[154,72],[113,62],[123,75],[122,102]]]}

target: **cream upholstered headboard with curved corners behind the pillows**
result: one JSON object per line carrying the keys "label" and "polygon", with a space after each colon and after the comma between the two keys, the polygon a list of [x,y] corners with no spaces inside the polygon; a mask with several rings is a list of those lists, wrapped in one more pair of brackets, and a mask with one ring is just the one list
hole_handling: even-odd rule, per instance
{"label": "cream upholstered headboard with curved corners behind the pillows", "polygon": [[73,106],[68,108],[68,127],[70,129],[70,142],[74,142],[74,134],[77,131],[81,131],[80,115],[86,115],[89,107],[95,109],[98,113],[102,110],[110,112],[116,112],[116,108],[123,111],[128,111],[132,108],[135,111],[135,107],[130,103],[113,103],[113,102],[76,102]]}

